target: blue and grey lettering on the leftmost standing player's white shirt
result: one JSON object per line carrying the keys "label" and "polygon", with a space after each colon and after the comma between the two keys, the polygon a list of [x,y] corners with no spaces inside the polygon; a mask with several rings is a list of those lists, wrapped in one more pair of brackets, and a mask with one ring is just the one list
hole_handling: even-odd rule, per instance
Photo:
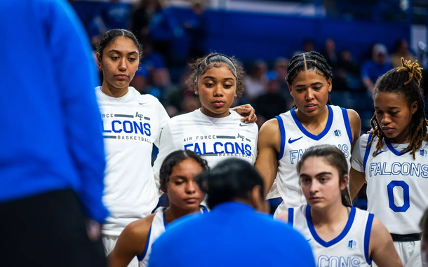
{"label": "blue and grey lettering on the leftmost standing player's white shirt", "polygon": [[152,136],[150,118],[139,114],[101,114],[101,118],[114,118],[102,121],[101,131],[104,138],[142,141],[152,144],[147,138]]}

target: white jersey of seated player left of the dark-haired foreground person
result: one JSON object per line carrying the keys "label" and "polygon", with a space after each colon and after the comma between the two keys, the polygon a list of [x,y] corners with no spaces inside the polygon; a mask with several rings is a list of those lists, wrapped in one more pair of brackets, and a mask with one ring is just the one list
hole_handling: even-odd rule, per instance
{"label": "white jersey of seated player left of the dark-haired foreground person", "polygon": [[[153,242],[156,241],[156,239],[161,236],[165,232],[166,227],[168,224],[166,224],[165,216],[163,214],[163,211],[165,210],[165,207],[159,207],[159,209],[156,210],[156,214],[154,214],[154,218],[152,221],[152,226],[150,226],[149,231],[149,237],[147,238],[146,247],[144,252],[140,256],[138,256],[138,266],[139,267],[147,267],[149,265],[149,257],[150,253],[152,253],[152,245]],[[201,205],[201,212],[208,212],[207,208],[205,206]]]}

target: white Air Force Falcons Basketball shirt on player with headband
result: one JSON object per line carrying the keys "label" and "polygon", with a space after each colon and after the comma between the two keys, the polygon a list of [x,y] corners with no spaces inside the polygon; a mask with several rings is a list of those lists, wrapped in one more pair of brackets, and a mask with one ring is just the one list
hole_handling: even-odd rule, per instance
{"label": "white Air Force Falcons Basketball shirt on player with headband", "polygon": [[212,118],[200,109],[171,118],[161,133],[159,155],[153,167],[156,179],[166,156],[180,149],[196,152],[210,167],[231,157],[253,165],[257,158],[258,125],[242,123],[241,118],[235,111],[225,118]]}

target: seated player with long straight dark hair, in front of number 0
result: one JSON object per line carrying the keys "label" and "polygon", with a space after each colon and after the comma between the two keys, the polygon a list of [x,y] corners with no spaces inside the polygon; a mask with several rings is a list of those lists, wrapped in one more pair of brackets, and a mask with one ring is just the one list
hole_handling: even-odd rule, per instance
{"label": "seated player with long straight dark hair, in front of number 0", "polygon": [[399,267],[387,228],[375,217],[351,205],[348,163],[335,146],[322,144],[303,153],[297,163],[307,205],[290,207],[279,217],[305,236],[316,266]]}

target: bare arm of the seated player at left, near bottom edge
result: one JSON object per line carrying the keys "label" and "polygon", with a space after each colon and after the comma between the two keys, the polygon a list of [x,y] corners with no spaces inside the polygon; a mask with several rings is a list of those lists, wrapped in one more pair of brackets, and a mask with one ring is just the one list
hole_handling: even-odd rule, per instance
{"label": "bare arm of the seated player at left, near bottom edge", "polygon": [[109,254],[109,267],[126,267],[135,256],[145,252],[154,214],[126,226]]}

